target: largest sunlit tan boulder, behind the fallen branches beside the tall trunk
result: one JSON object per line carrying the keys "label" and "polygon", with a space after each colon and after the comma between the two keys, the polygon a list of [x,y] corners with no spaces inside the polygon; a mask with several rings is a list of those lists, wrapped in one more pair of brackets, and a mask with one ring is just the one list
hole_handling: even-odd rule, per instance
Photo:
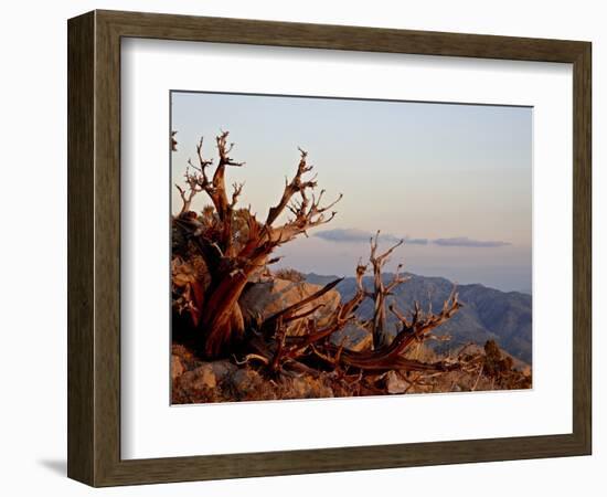
{"label": "largest sunlit tan boulder, behind the fallen branches beside the tall trunk", "polygon": [[[241,296],[238,304],[241,305],[245,322],[252,324],[269,318],[321,288],[322,286],[311,283],[274,278],[251,284]],[[315,302],[301,307],[298,314],[309,311],[321,304],[322,307],[317,309],[310,317],[316,319],[319,327],[324,326],[329,322],[331,314],[339,306],[340,298],[339,292],[333,288]],[[291,326],[289,329],[289,334],[291,335],[299,335],[301,332],[300,330],[296,330],[295,326]]]}

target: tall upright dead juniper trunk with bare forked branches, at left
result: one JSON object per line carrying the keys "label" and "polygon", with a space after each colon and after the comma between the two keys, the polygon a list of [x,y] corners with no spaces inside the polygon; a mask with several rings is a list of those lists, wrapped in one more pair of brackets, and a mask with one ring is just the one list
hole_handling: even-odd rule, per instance
{"label": "tall upright dead juniper trunk with bare forked branches, at left", "polygon": [[[257,220],[251,209],[236,209],[243,184],[234,183],[228,193],[225,176],[228,167],[242,167],[244,162],[232,159],[234,144],[228,144],[227,137],[227,131],[216,137],[216,166],[204,157],[201,138],[196,146],[198,160],[190,160],[185,171],[185,187],[175,186],[182,208],[173,219],[173,226],[202,257],[209,276],[204,285],[193,284],[198,288],[193,293],[196,300],[190,302],[188,309],[195,315],[193,322],[200,332],[200,351],[210,358],[230,350],[244,337],[238,298],[249,277],[276,262],[270,258],[276,247],[331,221],[336,215],[331,208],[341,199],[340,194],[329,204],[322,204],[324,191],[313,193],[317,181],[316,177],[309,177],[312,166],[308,165],[308,154],[299,149],[295,176],[286,181],[280,199],[265,220]],[[211,207],[200,214],[191,210],[199,193],[211,200]],[[284,213],[290,215],[283,216]]]}

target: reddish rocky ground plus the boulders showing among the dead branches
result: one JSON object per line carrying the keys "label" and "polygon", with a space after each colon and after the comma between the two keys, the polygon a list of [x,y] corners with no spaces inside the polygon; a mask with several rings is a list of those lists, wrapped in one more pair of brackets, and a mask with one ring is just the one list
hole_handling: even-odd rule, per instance
{"label": "reddish rocky ground plus the boulders showing among the dead branches", "polygon": [[[295,281],[292,281],[295,279]],[[320,286],[307,282],[283,278],[262,279],[249,285],[241,298],[247,309],[246,322],[254,325],[317,292]],[[320,325],[340,303],[340,294],[330,290],[316,302],[315,320]],[[319,304],[321,304],[319,306]],[[289,335],[303,332],[297,325]],[[369,331],[351,324],[331,336],[331,341],[350,350],[368,350],[372,347]],[[171,378],[172,403],[207,403],[286,399],[318,399],[403,393],[461,392],[497,389],[525,389],[531,387],[530,368],[501,350],[494,342],[488,348],[469,346],[466,355],[479,364],[472,371],[451,371],[434,374],[384,371],[366,374],[355,372],[310,370],[283,371],[271,374],[255,361],[238,363],[235,357],[215,361],[202,361],[184,343],[172,346]],[[426,345],[419,345],[407,356],[412,359],[434,362],[444,359]],[[482,366],[482,367],[480,367]]]}

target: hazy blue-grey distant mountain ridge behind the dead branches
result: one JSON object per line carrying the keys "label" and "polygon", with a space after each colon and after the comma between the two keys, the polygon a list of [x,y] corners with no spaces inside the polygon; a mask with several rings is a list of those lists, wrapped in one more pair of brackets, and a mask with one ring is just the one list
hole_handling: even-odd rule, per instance
{"label": "hazy blue-grey distant mountain ridge behind the dead branches", "polygon": [[[427,309],[432,300],[433,308],[439,310],[445,299],[452,289],[452,283],[446,278],[427,277],[408,274],[411,279],[394,290],[392,297],[402,311],[413,308],[413,303],[418,300],[422,308]],[[324,285],[338,276],[324,276],[310,273],[306,281],[317,285]],[[391,274],[385,274],[386,282],[392,279]],[[365,277],[365,284],[372,287],[371,277]],[[350,298],[356,289],[354,277],[347,277],[337,289],[342,298]],[[532,363],[531,322],[532,306],[531,295],[519,292],[500,292],[483,285],[458,285],[459,300],[464,307],[445,325],[436,329],[436,335],[449,334],[451,340],[447,342],[430,341],[437,351],[457,349],[470,341],[483,345],[493,339],[499,346],[513,357]],[[368,319],[373,314],[371,300],[366,299],[358,311],[362,319]],[[388,313],[388,327],[396,332],[397,320]]]}

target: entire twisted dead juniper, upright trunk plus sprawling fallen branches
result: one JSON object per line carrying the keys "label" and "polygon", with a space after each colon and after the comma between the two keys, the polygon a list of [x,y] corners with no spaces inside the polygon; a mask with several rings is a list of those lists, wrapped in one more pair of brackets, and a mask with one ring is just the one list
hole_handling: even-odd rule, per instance
{"label": "entire twisted dead juniper, upright trunk plus sprawling fallen branches", "polygon": [[[355,268],[355,294],[340,303],[322,324],[315,318],[322,304],[315,303],[320,302],[320,297],[333,289],[341,278],[269,316],[258,324],[257,329],[245,332],[238,300],[246,284],[276,261],[271,257],[276,247],[306,234],[311,228],[330,222],[336,215],[331,209],[341,194],[322,204],[324,191],[315,194],[316,177],[309,177],[312,167],[308,165],[307,152],[300,149],[292,179],[286,180],[280,199],[265,219],[257,220],[251,208],[236,208],[243,184],[234,183],[230,194],[226,190],[226,169],[244,165],[231,158],[233,144],[227,142],[227,133],[216,137],[216,166],[203,156],[201,139],[196,146],[198,161],[189,161],[185,171],[185,187],[177,186],[182,208],[173,218],[173,235],[177,232],[181,245],[187,245],[202,261],[204,271],[196,273],[174,257],[173,305],[177,311],[191,317],[198,352],[206,358],[226,356],[235,350],[235,345],[239,345],[243,361],[262,362],[275,374],[284,371],[317,374],[324,370],[340,374],[353,372],[362,378],[390,370],[436,372],[457,368],[452,361],[425,363],[405,357],[413,345],[428,339],[432,330],[448,320],[460,308],[460,303],[454,292],[438,314],[432,309],[423,311],[416,304],[407,316],[394,305],[388,306],[392,292],[407,278],[400,273],[402,265],[388,282],[384,281],[382,271],[390,255],[403,242],[380,253],[379,232],[371,239],[369,263],[359,263]],[[204,193],[211,204],[195,213],[192,201],[199,193]],[[364,282],[368,271],[372,273],[371,288]],[[373,303],[373,317],[362,326],[372,334],[373,347],[353,351],[336,345],[331,341],[333,334],[351,322],[360,324],[356,309],[365,299]],[[302,310],[305,308],[308,310]],[[394,338],[387,330],[387,310],[400,321]],[[294,325],[305,332],[289,335],[288,328]]]}

